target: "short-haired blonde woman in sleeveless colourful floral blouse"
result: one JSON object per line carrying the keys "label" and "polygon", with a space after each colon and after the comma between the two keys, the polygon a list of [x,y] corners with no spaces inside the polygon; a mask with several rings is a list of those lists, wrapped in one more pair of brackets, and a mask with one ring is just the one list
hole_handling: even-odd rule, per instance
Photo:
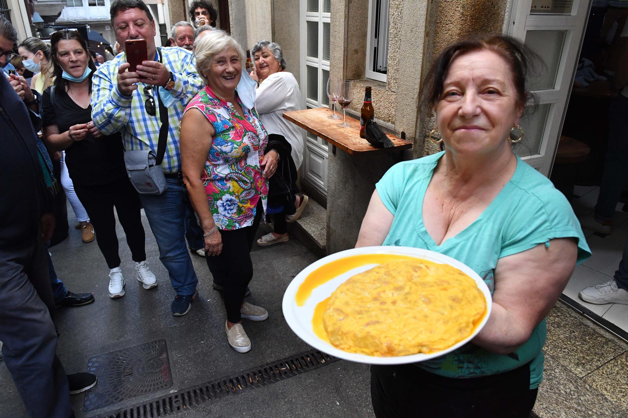
{"label": "short-haired blonde woman in sleeveless colourful floral blouse", "polygon": [[[251,247],[266,211],[267,179],[277,169],[268,134],[253,107],[252,86],[238,90],[244,52],[224,31],[197,40],[198,75],[205,88],[181,119],[181,164],[190,201],[200,218],[207,265],[224,287],[225,331],[239,353],[251,350],[242,318],[263,321],[266,309],[244,302],[253,276]],[[246,83],[246,80],[244,80]]]}

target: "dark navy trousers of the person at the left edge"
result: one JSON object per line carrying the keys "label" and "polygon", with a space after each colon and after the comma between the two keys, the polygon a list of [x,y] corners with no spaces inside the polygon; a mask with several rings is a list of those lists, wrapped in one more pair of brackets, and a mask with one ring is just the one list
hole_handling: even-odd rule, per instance
{"label": "dark navy trousers of the person at the left edge", "polygon": [[[31,417],[67,418],[70,389],[57,358],[46,250],[0,249],[0,341],[4,362]],[[6,411],[7,416],[13,415]]]}

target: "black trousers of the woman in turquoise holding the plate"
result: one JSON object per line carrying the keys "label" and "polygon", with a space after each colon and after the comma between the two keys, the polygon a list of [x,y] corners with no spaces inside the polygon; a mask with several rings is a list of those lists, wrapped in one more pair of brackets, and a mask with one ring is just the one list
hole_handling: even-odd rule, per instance
{"label": "black trousers of the woman in turquoise holding the plate", "polygon": [[528,418],[537,389],[529,363],[510,372],[448,378],[414,365],[371,366],[377,418]]}

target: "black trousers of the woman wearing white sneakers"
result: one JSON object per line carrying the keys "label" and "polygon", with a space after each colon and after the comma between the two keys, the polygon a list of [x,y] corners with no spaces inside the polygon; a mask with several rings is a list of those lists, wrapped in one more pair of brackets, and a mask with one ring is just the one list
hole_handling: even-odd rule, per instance
{"label": "black trousers of the woman wearing white sneakers", "polygon": [[128,178],[114,180],[104,185],[85,186],[74,183],[74,191],[94,225],[96,242],[110,269],[120,267],[114,206],[126,233],[126,243],[131,249],[133,261],[139,263],[146,260],[144,247],[146,237],[139,212],[141,203],[138,192]]}

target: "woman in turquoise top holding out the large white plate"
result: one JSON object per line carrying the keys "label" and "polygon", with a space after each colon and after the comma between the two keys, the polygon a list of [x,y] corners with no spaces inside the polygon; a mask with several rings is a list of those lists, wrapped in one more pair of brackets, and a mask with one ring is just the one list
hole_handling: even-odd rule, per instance
{"label": "woman in turquoise top holding out the large white plate", "polygon": [[[433,142],[377,183],[356,247],[402,245],[471,267],[492,292],[471,343],[416,367],[372,366],[377,417],[528,417],[543,375],[545,316],[590,256],[571,206],[512,152],[538,59],[504,35],[443,50],[426,78]],[[441,132],[436,141],[436,132]]]}

